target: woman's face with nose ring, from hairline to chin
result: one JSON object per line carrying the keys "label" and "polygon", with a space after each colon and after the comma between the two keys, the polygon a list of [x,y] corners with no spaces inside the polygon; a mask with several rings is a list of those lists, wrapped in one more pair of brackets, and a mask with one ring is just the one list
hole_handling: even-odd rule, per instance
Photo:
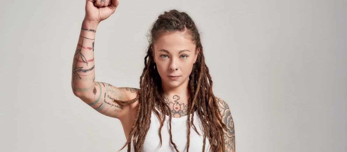
{"label": "woman's face with nose ring, from hairline to chin", "polygon": [[154,62],[163,87],[187,86],[200,49],[195,50],[196,45],[183,32],[164,34],[153,46]]}

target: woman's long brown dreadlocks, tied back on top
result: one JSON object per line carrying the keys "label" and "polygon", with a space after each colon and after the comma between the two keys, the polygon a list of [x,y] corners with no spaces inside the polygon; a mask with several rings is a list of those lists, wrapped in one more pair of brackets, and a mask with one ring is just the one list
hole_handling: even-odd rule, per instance
{"label": "woman's long brown dreadlocks, tied back on top", "polygon": [[[205,141],[207,137],[211,145],[209,151],[212,150],[213,152],[224,152],[225,143],[223,138],[223,128],[226,129],[226,125],[220,119],[221,114],[219,111],[218,102],[212,92],[211,75],[209,73],[209,68],[205,64],[200,35],[194,21],[185,12],[170,10],[169,12],[164,12],[158,17],[150,31],[150,45],[147,48],[147,55],[144,58],[145,67],[140,77],[140,89],[137,97],[129,101],[113,100],[114,102],[120,104],[131,104],[137,100],[139,101],[139,104],[136,107],[136,117],[133,122],[133,126],[130,129],[128,140],[120,150],[124,149],[124,147],[128,145],[128,152],[130,152],[130,144],[131,141],[133,141],[135,152],[141,151],[146,134],[151,124],[152,110],[155,112],[158,119],[162,118],[159,119],[159,136],[161,145],[161,128],[163,127],[166,117],[161,117],[158,111],[154,109],[155,104],[157,103],[162,109],[162,113],[170,116],[170,142],[178,152],[176,144],[172,141],[171,111],[169,110],[168,104],[164,101],[163,90],[161,89],[161,79],[158,70],[156,69],[156,64],[154,63],[151,48],[162,34],[166,32],[179,31],[188,34],[192,38],[192,41],[196,44],[196,49],[200,48],[200,53],[198,53],[196,62],[193,65],[192,73],[189,75],[188,89],[191,95],[194,96],[191,96],[188,99],[187,105],[187,152],[189,150],[189,135],[191,125],[193,126],[195,132],[199,134],[195,125],[193,124],[195,110],[197,110],[197,113],[200,116],[204,131],[204,145],[202,151],[205,151]],[[190,118],[190,114],[192,114],[192,118]]]}

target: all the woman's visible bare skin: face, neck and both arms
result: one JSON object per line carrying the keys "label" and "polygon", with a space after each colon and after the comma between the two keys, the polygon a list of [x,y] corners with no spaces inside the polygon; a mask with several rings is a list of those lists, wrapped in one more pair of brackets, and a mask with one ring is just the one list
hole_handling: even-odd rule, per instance
{"label": "all the woman's visible bare skin: face, neck and both arms", "polygon": [[[138,101],[129,105],[112,102],[113,99],[131,100],[137,95],[136,88],[117,88],[111,84],[95,81],[94,40],[96,27],[101,20],[113,14],[118,0],[87,0],[86,16],[82,24],[77,48],[74,54],[71,87],[74,94],[99,113],[118,118],[128,138],[135,119]],[[161,77],[165,101],[170,107],[172,117],[187,115],[188,77],[196,62],[199,48],[182,32],[162,35],[152,47],[154,62]],[[166,50],[166,51],[163,51]],[[189,50],[183,51],[182,50]],[[174,72],[175,71],[175,72]],[[179,75],[172,80],[168,75]],[[227,126],[223,129],[226,151],[235,152],[235,131],[229,106],[217,98],[222,121]],[[158,108],[159,109],[159,108]],[[160,110],[160,109],[159,109]]]}

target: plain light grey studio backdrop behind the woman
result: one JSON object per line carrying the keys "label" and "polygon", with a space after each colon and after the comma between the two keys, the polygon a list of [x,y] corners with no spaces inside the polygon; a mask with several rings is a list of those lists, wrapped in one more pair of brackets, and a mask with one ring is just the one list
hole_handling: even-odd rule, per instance
{"label": "plain light grey studio backdrop behind the woman", "polygon": [[[120,121],[71,89],[84,7],[1,2],[0,151],[116,152],[125,143]],[[170,9],[201,32],[237,152],[347,151],[346,0],[120,0],[97,28],[96,81],[138,88],[146,34]]]}

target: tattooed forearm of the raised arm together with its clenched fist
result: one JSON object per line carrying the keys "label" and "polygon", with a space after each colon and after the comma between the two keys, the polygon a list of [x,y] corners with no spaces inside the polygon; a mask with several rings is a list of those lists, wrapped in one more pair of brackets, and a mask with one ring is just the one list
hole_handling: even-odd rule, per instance
{"label": "tattooed forearm of the raised arm together with its clenched fist", "polygon": [[[94,88],[94,39],[96,27],[116,11],[118,0],[87,0],[85,16],[72,65],[71,86],[76,96]],[[105,7],[107,6],[107,7]]]}

